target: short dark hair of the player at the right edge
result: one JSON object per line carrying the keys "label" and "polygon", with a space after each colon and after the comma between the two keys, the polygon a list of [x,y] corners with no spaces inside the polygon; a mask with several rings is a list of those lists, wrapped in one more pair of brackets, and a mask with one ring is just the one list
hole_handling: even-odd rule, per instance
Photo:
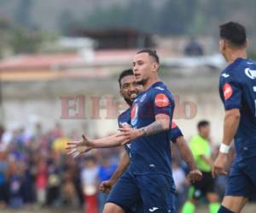
{"label": "short dark hair of the player at the right edge", "polygon": [[247,32],[244,26],[236,22],[227,22],[219,26],[219,36],[236,47],[244,46],[247,41]]}

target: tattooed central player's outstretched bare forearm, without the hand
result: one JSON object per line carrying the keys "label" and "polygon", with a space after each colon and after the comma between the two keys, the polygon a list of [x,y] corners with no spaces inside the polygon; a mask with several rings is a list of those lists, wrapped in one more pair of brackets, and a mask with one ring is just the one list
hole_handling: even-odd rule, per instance
{"label": "tattooed central player's outstretched bare forearm, without the hand", "polygon": [[108,148],[108,147],[118,147],[121,145],[123,140],[119,133],[110,135],[108,137],[92,140],[93,148]]}

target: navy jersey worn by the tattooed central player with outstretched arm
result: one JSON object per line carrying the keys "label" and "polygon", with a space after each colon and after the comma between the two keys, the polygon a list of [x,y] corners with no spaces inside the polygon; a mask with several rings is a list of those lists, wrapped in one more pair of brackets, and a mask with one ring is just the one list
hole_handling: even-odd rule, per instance
{"label": "navy jersey worn by the tattooed central player with outstretched arm", "polygon": [[[171,92],[164,83],[154,83],[133,102],[131,126],[134,129],[148,126],[154,123],[155,116],[160,113],[170,116],[172,122],[173,110],[174,100]],[[170,141],[169,130],[132,141],[130,146],[132,173],[172,176]]]}

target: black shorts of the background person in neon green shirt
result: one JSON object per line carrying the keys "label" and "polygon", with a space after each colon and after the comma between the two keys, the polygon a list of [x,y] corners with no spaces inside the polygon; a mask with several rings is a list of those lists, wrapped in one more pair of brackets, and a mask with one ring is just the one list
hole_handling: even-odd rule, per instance
{"label": "black shorts of the background person in neon green shirt", "polygon": [[214,193],[215,181],[212,178],[212,172],[201,172],[201,181],[196,181],[189,187],[189,199],[201,199],[207,193]]}

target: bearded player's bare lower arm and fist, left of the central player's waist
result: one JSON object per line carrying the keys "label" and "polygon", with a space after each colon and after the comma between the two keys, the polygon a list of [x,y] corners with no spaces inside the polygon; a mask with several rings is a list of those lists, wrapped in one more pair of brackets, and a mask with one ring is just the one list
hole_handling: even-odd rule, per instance
{"label": "bearded player's bare lower arm and fist, left of the central player's waist", "polygon": [[102,181],[100,185],[100,190],[103,193],[109,193],[113,185],[119,179],[120,176],[123,175],[127,166],[130,164],[130,158],[126,151],[124,151],[122,158],[119,161],[118,168],[114,171],[113,176],[110,177],[108,181]]}

